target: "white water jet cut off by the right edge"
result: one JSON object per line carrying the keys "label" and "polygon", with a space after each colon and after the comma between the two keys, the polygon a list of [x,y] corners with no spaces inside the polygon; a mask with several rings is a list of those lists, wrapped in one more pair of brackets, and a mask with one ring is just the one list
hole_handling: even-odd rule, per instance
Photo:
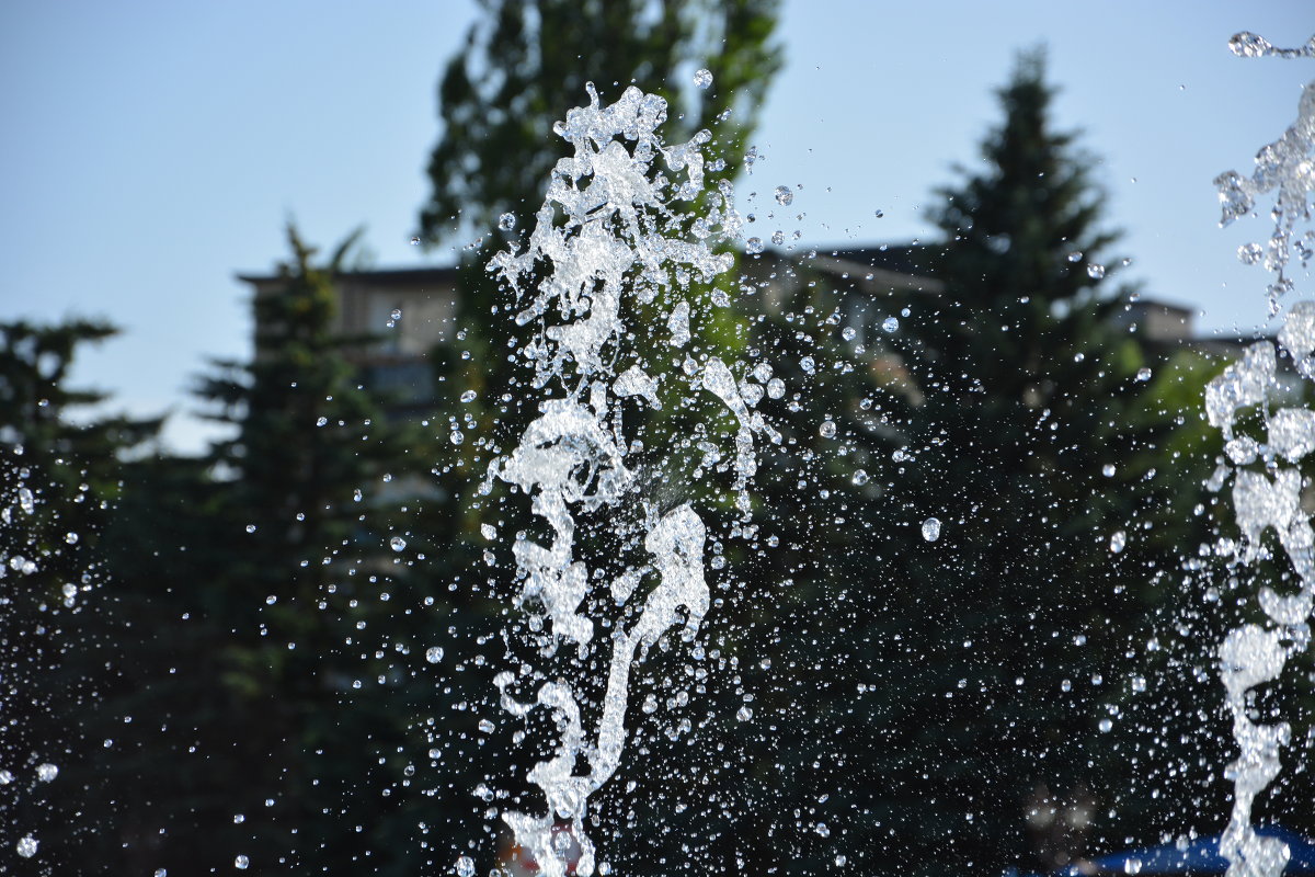
{"label": "white water jet cut off by the right edge", "polygon": [[[1262,37],[1240,33],[1230,47],[1243,57],[1315,58],[1315,37],[1302,49],[1276,49]],[[1315,191],[1315,82],[1302,92],[1293,126],[1257,153],[1255,172],[1245,178],[1228,171],[1215,179],[1215,185],[1223,205],[1220,225],[1252,213],[1258,197],[1273,195],[1274,229],[1268,245],[1244,245],[1239,258],[1248,264],[1262,263],[1273,272],[1268,295],[1269,313],[1276,316],[1281,297],[1295,288],[1287,273],[1293,255],[1303,266],[1315,255],[1315,229],[1302,231],[1311,224],[1310,196]],[[1301,377],[1315,380],[1315,301],[1289,308],[1278,350]],[[1219,489],[1232,477],[1241,531],[1240,542],[1222,547],[1232,555],[1232,563],[1255,564],[1270,556],[1262,538],[1273,527],[1298,579],[1293,593],[1262,586],[1258,602],[1268,623],[1233,628],[1219,648],[1220,678],[1240,749],[1228,765],[1233,807],[1219,844],[1230,863],[1230,877],[1277,877],[1287,864],[1287,847],[1276,838],[1257,835],[1251,811],[1256,795],[1281,770],[1279,755],[1291,727],[1286,722],[1257,723],[1255,701],[1257,689],[1278,680],[1287,660],[1310,646],[1315,605],[1315,530],[1302,509],[1303,479],[1298,468],[1299,460],[1315,451],[1315,412],[1285,404],[1293,401],[1294,393],[1279,380],[1278,350],[1269,341],[1252,344],[1206,391],[1206,413],[1222,431],[1227,454],[1210,486]],[[1239,427],[1239,414],[1247,409],[1258,414],[1262,425],[1256,435]]]}

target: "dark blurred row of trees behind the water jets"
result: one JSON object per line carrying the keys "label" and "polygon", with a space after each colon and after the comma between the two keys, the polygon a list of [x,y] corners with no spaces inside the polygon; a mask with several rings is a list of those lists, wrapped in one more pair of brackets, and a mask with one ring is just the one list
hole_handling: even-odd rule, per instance
{"label": "dark blurred row of trees behind the water jets", "polygon": [[[531,213],[551,122],[586,79],[610,92],[640,67],[711,70],[714,88],[665,96],[734,179],[753,118],[735,96],[760,99],[778,66],[775,4],[644,8],[488,4],[442,79],[427,241],[463,231],[458,212]],[[494,92],[472,75],[489,59]],[[1222,828],[1212,650],[1241,609],[1207,600],[1227,572],[1198,551],[1219,363],[1126,318],[1139,289],[1052,93],[1022,57],[982,162],[938,193],[940,239],[907,254],[938,292],[876,296],[803,258],[772,297],[751,255],[721,291],[738,298],[701,343],[784,381],[763,402],[781,444],[756,530],[718,546],[698,640],[634,680],[627,755],[592,811],[615,873],[1048,870]],[[537,400],[508,359],[515,327],[485,306],[502,302],[489,250],[431,358],[433,413],[401,418],[352,366],[372,339],[334,330],[355,238],[323,258],[295,229],[288,245],[251,362],[196,384],[229,427],[201,458],[163,452],[159,421],[71,415],[107,401],[66,377],[113,327],[0,326],[13,873],[525,868],[496,814],[556,730],[512,719],[492,685],[534,622],[494,542],[525,498],[480,483]],[[686,426],[654,419],[646,442]],[[1310,694],[1285,717],[1301,740]],[[1315,832],[1312,797],[1287,773],[1266,815]]]}

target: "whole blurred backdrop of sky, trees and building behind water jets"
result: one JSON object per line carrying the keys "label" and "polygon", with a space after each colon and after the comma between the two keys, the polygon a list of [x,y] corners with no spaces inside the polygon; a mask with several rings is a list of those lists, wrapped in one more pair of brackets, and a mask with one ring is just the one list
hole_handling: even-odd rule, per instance
{"label": "whole blurred backdrop of sky, trees and building behind water jets", "polygon": [[[710,509],[713,605],[636,665],[586,819],[606,869],[1222,873],[1216,646],[1291,585],[1233,563],[1207,486],[1202,393],[1272,330],[1273,280],[1244,264],[1264,208],[1220,230],[1212,180],[1311,79],[1230,38],[1312,25],[1295,1],[7,5],[0,872],[539,872],[501,815],[542,809],[525,774],[560,728],[492,680],[571,678],[592,727],[606,655],[514,600],[510,544],[542,527],[481,481],[539,396],[484,264],[523,243],[592,82],[667,99],[668,142],[711,133],[746,225],[680,293],[677,366],[731,363],[781,439],[747,523],[717,492],[727,418],[630,422],[634,505]],[[664,367],[671,304],[631,325]],[[1312,680],[1294,655],[1255,703],[1293,728],[1256,810],[1289,873],[1315,872]]]}

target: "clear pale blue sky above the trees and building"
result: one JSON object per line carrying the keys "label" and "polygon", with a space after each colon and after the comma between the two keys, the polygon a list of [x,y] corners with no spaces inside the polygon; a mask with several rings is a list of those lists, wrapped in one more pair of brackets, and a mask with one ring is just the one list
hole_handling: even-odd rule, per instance
{"label": "clear pale blue sky above the trees and building", "polygon": [[[118,409],[174,410],[170,443],[197,450],[187,388],[206,358],[247,355],[234,273],[283,256],[289,216],[326,249],[367,225],[379,267],[452,258],[409,239],[438,75],[475,14],[468,0],[0,5],[0,320],[118,323],[79,383]],[[1235,58],[1243,29],[1297,46],[1315,5],[786,0],[767,158],[740,192],[802,184],[797,225],[819,247],[926,238],[931,189],[977,160],[1015,50],[1045,42],[1057,121],[1101,158],[1127,276],[1205,312],[1203,331],[1247,330],[1265,279],[1236,247],[1268,230],[1220,231],[1211,179],[1249,172],[1315,63]]]}

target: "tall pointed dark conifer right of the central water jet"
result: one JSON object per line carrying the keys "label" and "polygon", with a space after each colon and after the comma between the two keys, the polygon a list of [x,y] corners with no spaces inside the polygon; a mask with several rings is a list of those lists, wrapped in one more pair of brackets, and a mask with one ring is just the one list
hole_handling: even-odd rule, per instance
{"label": "tall pointed dark conifer right of the central water jet", "polygon": [[902,669],[869,769],[910,864],[1055,868],[1091,828],[1119,843],[1134,735],[1105,731],[1199,534],[1203,433],[1162,400],[1203,369],[1116,320],[1136,293],[1114,285],[1093,160],[1052,129],[1044,72],[1019,59],[982,170],[942,192],[945,289],[909,301],[896,342],[922,398],[890,494],[913,538],[873,636]]}

